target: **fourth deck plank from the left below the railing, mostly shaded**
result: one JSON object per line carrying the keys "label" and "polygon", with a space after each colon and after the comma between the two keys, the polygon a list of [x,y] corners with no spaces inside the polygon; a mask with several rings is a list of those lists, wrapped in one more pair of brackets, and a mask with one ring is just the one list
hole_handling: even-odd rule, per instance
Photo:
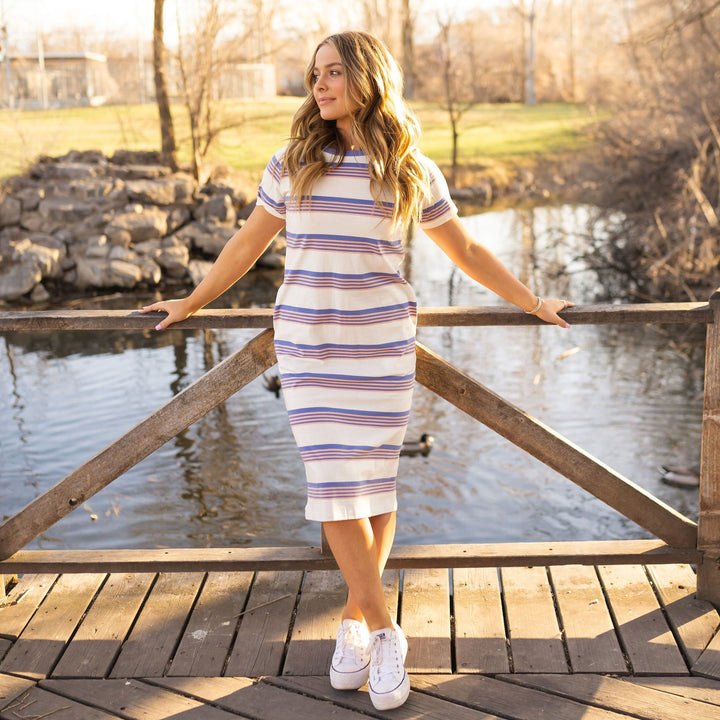
{"label": "fourth deck plank from the left below the railing, mostly shaded", "polygon": [[202,573],[158,576],[110,677],[159,677],[165,673],[202,580]]}

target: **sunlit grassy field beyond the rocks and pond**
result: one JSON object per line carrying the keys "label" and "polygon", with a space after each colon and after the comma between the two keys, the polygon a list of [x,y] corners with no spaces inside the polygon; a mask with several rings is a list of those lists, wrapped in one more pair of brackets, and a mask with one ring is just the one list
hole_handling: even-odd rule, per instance
{"label": "sunlit grassy field beyond the rocks and pond", "polygon": [[[224,163],[259,178],[268,158],[285,144],[300,98],[225,102],[218,124],[234,125],[213,146],[211,163]],[[423,126],[422,149],[441,166],[450,162],[447,113],[438,105],[416,103]],[[186,113],[173,107],[181,162],[188,161]],[[478,169],[502,164],[525,164],[548,153],[582,147],[583,130],[597,120],[582,105],[478,105],[461,120],[460,164]],[[39,155],[62,155],[69,150],[152,150],[160,145],[157,108],[148,105],[110,105],[47,111],[0,111],[0,178],[23,172]]]}

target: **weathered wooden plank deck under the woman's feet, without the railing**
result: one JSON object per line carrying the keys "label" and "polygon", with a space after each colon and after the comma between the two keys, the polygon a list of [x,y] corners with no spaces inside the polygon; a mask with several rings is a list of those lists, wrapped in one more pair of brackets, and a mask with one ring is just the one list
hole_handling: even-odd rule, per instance
{"label": "weathered wooden plank deck under the woman's feet, without the railing", "polygon": [[0,718],[720,717],[686,564],[391,570],[410,699],[330,688],[337,571],[31,574],[0,601]]}

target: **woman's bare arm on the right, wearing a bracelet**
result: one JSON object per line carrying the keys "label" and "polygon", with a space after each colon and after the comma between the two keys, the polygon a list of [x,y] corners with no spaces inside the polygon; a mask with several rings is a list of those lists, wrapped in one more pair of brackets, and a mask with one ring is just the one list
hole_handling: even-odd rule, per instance
{"label": "woman's bare arm on the right, wearing a bracelet", "polygon": [[542,300],[523,285],[495,254],[477,242],[457,218],[424,232],[463,272],[488,290],[545,322],[570,327],[558,316],[558,312],[572,307],[574,303],[556,298]]}

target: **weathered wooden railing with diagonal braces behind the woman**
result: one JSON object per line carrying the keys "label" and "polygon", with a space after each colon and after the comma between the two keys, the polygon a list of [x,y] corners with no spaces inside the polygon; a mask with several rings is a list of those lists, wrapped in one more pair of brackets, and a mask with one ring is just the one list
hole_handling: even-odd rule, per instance
{"label": "weathered wooden railing with diagonal braces behind the woman", "polygon": [[[707,326],[698,523],[595,459],[540,421],[417,345],[417,380],[659,538],[585,543],[399,546],[389,567],[691,562],[698,595],[720,606],[720,292],[708,303],[586,305],[566,311],[579,324]],[[148,330],[157,322],[127,311],[0,313],[0,332]],[[421,326],[536,325],[537,318],[498,307],[424,308]],[[229,548],[127,551],[29,551],[49,529],[165,442],[275,364],[272,310],[205,310],[178,329],[258,328],[263,332],[155,413],[0,525],[0,573],[266,568],[326,568],[322,548]]]}

